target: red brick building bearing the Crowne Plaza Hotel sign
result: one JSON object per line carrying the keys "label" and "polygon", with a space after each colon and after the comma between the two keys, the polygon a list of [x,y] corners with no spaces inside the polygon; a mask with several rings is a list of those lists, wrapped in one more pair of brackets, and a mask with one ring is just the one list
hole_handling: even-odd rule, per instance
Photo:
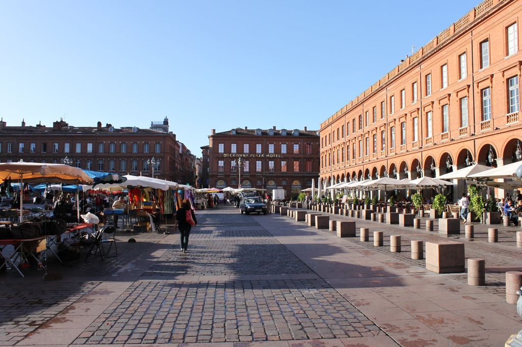
{"label": "red brick building bearing the Crowne Plaza Hotel sign", "polygon": [[[212,129],[209,145],[201,147],[208,163],[211,187],[282,187],[287,196],[311,187],[319,174],[317,131],[236,128],[218,132]],[[239,159],[241,158],[241,169]],[[241,181],[239,180],[241,172]]]}

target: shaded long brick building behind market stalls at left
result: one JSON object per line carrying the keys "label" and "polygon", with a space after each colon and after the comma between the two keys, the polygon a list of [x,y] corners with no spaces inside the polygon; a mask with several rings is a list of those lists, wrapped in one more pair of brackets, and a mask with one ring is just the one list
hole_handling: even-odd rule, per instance
{"label": "shaded long brick building behind market stalls at left", "polygon": [[[167,127],[167,131],[164,131]],[[0,121],[0,162],[62,163],[67,157],[73,166],[93,171],[120,172],[122,175],[154,177],[194,183],[195,157],[168,132],[168,119],[158,130],[137,127],[74,127],[63,120],[53,127],[42,125],[7,126]]]}

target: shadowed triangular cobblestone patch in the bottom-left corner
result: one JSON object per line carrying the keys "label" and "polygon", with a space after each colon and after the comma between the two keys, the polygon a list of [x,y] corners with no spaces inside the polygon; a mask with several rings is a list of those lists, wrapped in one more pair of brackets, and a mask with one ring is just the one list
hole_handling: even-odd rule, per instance
{"label": "shadowed triangular cobblestone patch in the bottom-left corner", "polygon": [[0,345],[13,345],[98,286],[100,282],[12,284],[0,290]]}

